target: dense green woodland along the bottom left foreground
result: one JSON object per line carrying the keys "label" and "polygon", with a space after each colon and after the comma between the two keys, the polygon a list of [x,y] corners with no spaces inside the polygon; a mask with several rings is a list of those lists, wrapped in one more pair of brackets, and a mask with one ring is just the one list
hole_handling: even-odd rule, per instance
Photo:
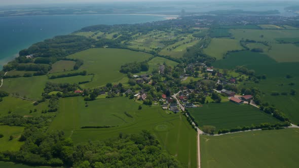
{"label": "dense green woodland along the bottom left foreground", "polygon": [[61,131],[28,127],[19,141],[25,142],[20,151],[2,152],[0,160],[67,167],[181,167],[148,131],[74,145]]}

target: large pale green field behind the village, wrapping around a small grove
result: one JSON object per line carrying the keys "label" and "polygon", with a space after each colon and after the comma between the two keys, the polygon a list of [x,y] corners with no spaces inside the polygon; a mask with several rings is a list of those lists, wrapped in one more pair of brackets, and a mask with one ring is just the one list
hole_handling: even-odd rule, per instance
{"label": "large pale green field behind the village, wrapping around a small grove", "polygon": [[120,72],[121,65],[128,62],[144,61],[152,57],[150,54],[134,52],[123,49],[89,49],[68,58],[77,58],[84,61],[79,70],[86,70],[93,73],[92,82],[82,85],[84,88],[94,88],[106,85],[108,82],[121,80],[125,74]]}

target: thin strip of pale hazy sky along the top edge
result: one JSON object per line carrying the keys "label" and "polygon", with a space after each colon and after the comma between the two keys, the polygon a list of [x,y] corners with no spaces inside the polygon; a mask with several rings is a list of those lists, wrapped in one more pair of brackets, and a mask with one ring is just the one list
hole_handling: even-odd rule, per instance
{"label": "thin strip of pale hazy sky along the top edge", "polygon": [[[153,2],[153,1],[184,1],[184,0],[0,0],[1,5],[24,5],[24,4],[57,4],[57,3],[105,3],[105,2]],[[190,0],[187,0],[190,1]],[[211,0],[199,0],[205,2],[211,2]],[[220,1],[220,0],[212,0]],[[239,1],[244,0],[223,0],[223,1]],[[246,1],[256,1],[256,0],[246,0]],[[260,1],[283,1],[283,0],[260,0]],[[293,0],[295,1],[295,0]]]}

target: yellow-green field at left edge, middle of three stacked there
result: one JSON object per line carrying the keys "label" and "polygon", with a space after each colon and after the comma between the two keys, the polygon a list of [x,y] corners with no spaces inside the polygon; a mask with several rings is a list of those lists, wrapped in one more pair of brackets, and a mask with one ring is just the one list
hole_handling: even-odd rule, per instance
{"label": "yellow-green field at left edge, middle of three stacked there", "polygon": [[[37,106],[33,106],[32,101],[22,100],[14,97],[5,97],[3,101],[0,102],[0,116],[8,115],[9,110],[12,110],[11,114],[19,114],[26,116],[40,116],[42,115],[42,110],[48,109],[48,101],[42,102]],[[36,112],[30,113],[30,110]],[[54,113],[47,113],[43,115],[54,115]]]}

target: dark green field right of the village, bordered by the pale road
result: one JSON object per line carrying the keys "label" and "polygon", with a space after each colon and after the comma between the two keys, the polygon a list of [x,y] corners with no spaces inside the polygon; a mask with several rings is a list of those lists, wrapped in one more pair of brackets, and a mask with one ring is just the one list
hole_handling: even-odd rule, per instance
{"label": "dark green field right of the village, bordered by the pale road", "polygon": [[237,105],[232,102],[210,103],[203,105],[203,107],[188,110],[199,123],[199,127],[213,125],[216,130],[265,122],[279,122],[273,116],[259,111],[256,107],[247,104]]}

